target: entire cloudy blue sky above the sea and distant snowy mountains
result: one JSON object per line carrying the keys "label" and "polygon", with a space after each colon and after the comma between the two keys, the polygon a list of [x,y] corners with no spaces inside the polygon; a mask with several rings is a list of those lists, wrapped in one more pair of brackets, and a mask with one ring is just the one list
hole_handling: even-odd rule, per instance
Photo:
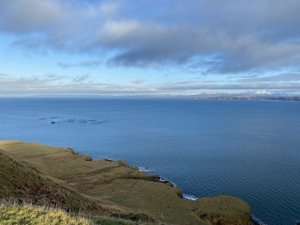
{"label": "entire cloudy blue sky above the sea and distant snowy mountains", "polygon": [[0,96],[300,95],[298,0],[0,0]]}

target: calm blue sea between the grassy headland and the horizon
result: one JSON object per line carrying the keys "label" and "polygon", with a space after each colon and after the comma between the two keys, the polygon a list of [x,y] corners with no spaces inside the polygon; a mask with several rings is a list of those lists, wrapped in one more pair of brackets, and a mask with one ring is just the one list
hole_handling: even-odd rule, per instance
{"label": "calm blue sea between the grassy headland and the horizon", "polygon": [[0,140],[123,159],[190,199],[234,195],[264,224],[300,221],[300,102],[0,98],[0,122]]}

